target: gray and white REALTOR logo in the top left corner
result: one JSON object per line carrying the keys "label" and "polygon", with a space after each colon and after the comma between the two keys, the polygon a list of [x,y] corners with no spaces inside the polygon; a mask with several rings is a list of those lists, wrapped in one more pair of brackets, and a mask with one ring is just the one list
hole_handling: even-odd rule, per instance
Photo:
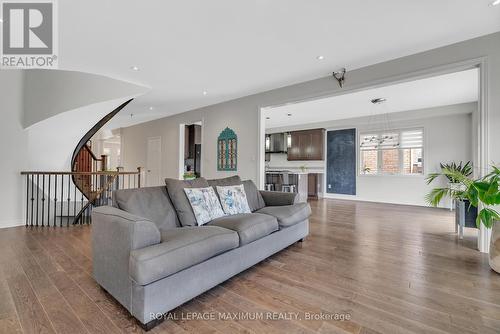
{"label": "gray and white REALTOR logo in the top left corner", "polygon": [[2,68],[57,68],[54,0],[2,2]]}

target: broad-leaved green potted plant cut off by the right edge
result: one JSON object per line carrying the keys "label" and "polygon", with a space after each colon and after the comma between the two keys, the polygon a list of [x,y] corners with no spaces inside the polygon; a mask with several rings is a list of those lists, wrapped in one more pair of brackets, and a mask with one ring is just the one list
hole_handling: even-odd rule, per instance
{"label": "broad-leaved green potted plant cut off by the right edge", "polygon": [[462,198],[467,198],[471,206],[480,208],[477,214],[476,225],[483,224],[486,228],[492,228],[490,239],[490,267],[500,273],[500,213],[495,206],[500,205],[500,169],[492,166],[493,171],[477,180],[471,180],[456,170],[444,169],[443,174],[456,178],[465,185]]}

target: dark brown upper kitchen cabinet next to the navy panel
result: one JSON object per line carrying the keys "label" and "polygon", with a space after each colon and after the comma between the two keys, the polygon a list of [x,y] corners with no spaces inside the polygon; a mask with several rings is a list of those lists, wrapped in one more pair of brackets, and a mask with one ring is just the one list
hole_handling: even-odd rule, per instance
{"label": "dark brown upper kitchen cabinet next to the navy panel", "polygon": [[325,129],[293,131],[290,135],[289,161],[325,159]]}

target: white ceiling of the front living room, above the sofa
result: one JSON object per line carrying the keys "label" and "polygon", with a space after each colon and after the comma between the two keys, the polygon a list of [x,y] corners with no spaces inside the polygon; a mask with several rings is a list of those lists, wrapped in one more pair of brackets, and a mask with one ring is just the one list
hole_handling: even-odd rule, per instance
{"label": "white ceiling of the front living room, above the sofa", "polygon": [[490,2],[58,1],[59,65],[151,87],[123,126],[499,31]]}

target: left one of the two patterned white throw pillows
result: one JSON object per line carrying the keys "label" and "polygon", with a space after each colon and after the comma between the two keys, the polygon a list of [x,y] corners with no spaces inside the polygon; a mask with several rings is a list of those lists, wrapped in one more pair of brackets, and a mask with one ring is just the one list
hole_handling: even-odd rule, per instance
{"label": "left one of the two patterned white throw pillows", "polygon": [[215,218],[226,215],[222,211],[214,188],[184,188],[184,192],[193,208],[198,225],[205,225]]}

